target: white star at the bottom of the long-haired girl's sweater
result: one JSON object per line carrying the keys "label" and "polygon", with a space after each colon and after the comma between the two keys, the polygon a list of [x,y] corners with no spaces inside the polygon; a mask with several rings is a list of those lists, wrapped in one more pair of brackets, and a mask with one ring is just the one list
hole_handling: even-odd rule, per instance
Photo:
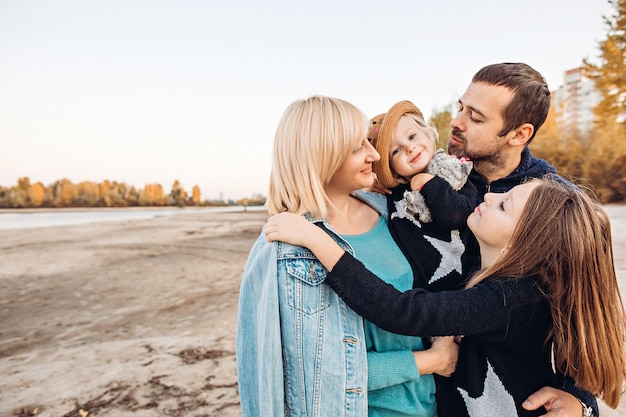
{"label": "white star at the bottom of the long-haired girl's sweater", "polygon": [[457,388],[465,405],[468,414],[474,416],[494,416],[514,417],[517,416],[515,401],[509,392],[502,385],[502,381],[493,371],[493,367],[487,361],[487,375],[485,376],[485,386],[483,394],[478,398],[472,398],[463,388]]}

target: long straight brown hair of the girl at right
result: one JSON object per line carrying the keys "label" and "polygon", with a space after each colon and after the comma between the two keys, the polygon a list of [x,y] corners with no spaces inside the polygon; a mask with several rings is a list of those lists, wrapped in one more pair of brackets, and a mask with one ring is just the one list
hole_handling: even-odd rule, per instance
{"label": "long straight brown hair of the girl at right", "polygon": [[550,303],[556,369],[576,385],[619,404],[626,380],[624,305],[611,225],[591,193],[553,179],[530,194],[506,252],[473,277],[538,277]]}

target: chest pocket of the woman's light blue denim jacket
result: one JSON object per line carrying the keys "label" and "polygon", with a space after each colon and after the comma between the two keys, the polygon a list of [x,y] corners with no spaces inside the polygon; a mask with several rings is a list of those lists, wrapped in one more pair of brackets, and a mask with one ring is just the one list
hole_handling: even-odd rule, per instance
{"label": "chest pocket of the woman's light blue denim jacket", "polygon": [[324,284],[328,271],[317,259],[287,261],[289,306],[305,314],[330,307],[332,291]]}

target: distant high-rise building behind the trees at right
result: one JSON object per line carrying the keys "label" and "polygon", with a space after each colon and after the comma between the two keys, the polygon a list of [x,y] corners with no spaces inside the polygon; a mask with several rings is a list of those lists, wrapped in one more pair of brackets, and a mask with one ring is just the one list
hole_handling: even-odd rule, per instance
{"label": "distant high-rise building behind the trees at right", "polygon": [[565,71],[563,85],[552,93],[556,121],[563,132],[586,135],[593,129],[593,108],[602,95],[594,82],[582,75],[582,68]]}

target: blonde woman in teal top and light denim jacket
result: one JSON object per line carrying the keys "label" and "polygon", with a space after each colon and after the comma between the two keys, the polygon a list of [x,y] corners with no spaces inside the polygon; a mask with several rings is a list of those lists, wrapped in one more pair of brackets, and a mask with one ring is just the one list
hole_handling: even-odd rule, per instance
{"label": "blonde woman in teal top and light denim jacket", "polygon": [[[291,104],[274,141],[270,214],[305,214],[312,227],[400,291],[413,271],[387,227],[385,197],[370,187],[379,154],[368,120],[343,100]],[[261,233],[243,273],[237,372],[244,416],[425,416],[436,413],[432,373],[454,370],[458,347],[380,329],[325,283],[306,248],[268,243]]]}

